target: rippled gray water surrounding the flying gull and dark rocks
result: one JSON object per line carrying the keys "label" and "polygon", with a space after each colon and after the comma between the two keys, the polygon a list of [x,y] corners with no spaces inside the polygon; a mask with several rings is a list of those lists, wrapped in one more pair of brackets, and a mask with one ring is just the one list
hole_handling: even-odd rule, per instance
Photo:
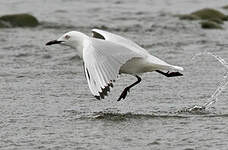
{"label": "rippled gray water surrounding the flying gull and dark rocks", "polygon": [[[175,14],[221,6],[227,0],[7,0],[0,15],[31,13],[37,28],[0,29],[0,149],[227,150],[228,23],[203,30]],[[135,78],[119,78],[96,100],[82,61],[67,47],[46,47],[70,30],[106,28],[151,54],[185,68],[183,77],[146,73],[127,99],[117,98]],[[189,111],[210,100],[205,109]],[[192,109],[191,109],[192,110]]]}

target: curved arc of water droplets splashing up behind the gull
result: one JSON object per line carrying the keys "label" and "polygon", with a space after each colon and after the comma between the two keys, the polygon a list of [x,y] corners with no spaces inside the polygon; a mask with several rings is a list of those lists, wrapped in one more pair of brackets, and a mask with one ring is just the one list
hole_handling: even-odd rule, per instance
{"label": "curved arc of water droplets splashing up behind the gull", "polygon": [[220,82],[217,89],[214,91],[214,93],[208,99],[208,102],[206,102],[202,106],[194,105],[190,108],[186,108],[185,109],[186,112],[205,111],[207,108],[209,108],[209,106],[211,106],[212,104],[214,104],[218,100],[218,96],[221,94],[221,92],[226,88],[226,86],[228,84],[228,63],[223,58],[221,58],[220,56],[217,56],[211,52],[198,53],[192,59],[195,59],[196,57],[201,56],[201,55],[210,55],[210,56],[214,57],[216,60],[218,60],[225,67],[226,73],[223,77],[223,81]]}

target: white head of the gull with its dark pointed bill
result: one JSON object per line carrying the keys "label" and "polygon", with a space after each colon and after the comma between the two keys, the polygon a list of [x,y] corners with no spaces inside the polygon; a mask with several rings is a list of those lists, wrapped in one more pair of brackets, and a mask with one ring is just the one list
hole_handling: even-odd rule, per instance
{"label": "white head of the gull with its dark pointed bill", "polygon": [[81,47],[81,45],[83,44],[83,40],[85,36],[86,35],[81,32],[70,31],[63,34],[57,40],[52,40],[47,42],[46,45],[60,44],[60,45],[70,46],[73,48],[78,48],[78,47]]}

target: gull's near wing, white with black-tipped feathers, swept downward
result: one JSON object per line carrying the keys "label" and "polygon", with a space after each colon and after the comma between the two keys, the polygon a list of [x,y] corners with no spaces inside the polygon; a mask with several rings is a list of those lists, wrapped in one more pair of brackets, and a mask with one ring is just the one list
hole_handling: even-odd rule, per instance
{"label": "gull's near wing, white with black-tipped feathers, swept downward", "polygon": [[128,48],[100,39],[91,38],[83,49],[84,70],[92,94],[104,98],[113,87],[120,67],[128,60],[140,57]]}

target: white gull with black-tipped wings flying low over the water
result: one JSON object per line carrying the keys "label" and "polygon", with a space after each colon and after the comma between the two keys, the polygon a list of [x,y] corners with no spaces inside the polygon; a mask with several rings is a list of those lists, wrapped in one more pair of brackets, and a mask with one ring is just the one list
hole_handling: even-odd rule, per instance
{"label": "white gull with black-tipped wings flying low over the water", "polygon": [[[91,93],[97,99],[108,96],[119,74],[129,74],[137,81],[127,86],[117,101],[125,99],[130,89],[141,82],[141,75],[156,71],[166,77],[182,76],[182,67],[170,65],[151,55],[135,42],[120,35],[92,29],[92,37],[78,31],[65,33],[46,45],[60,44],[77,50]],[[163,72],[163,71],[167,72]],[[170,72],[175,70],[177,72]]]}

